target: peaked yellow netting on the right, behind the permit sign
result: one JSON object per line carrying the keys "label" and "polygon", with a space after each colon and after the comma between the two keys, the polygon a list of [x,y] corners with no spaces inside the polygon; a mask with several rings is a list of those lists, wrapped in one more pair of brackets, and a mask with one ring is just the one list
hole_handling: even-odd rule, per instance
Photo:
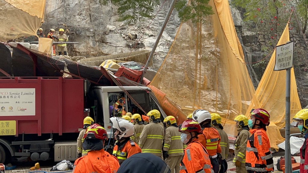
{"label": "peaked yellow netting on the right, behind the permit sign", "polygon": [[[277,45],[283,45],[290,41],[289,24],[286,25]],[[285,127],[286,115],[286,70],[274,71],[276,50],[274,50],[269,64],[262,76],[253,100],[247,110],[247,115],[252,108],[263,108],[270,113],[270,122],[279,129]],[[290,117],[301,110],[298,98],[294,69],[291,69],[291,93],[290,93]]]}

